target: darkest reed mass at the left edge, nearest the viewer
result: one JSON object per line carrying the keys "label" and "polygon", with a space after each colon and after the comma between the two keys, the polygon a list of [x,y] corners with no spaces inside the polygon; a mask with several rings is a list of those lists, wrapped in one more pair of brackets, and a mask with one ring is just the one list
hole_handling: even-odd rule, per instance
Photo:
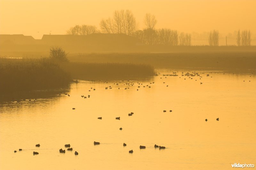
{"label": "darkest reed mass at the left edge, nearest the viewer", "polygon": [[71,77],[48,58],[0,58],[0,91],[49,89],[68,85]]}

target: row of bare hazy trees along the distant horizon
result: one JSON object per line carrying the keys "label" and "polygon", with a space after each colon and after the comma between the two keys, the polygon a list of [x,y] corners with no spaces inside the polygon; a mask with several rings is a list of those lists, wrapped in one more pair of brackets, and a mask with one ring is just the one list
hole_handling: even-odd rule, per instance
{"label": "row of bare hazy trees along the distant horizon", "polygon": [[[136,21],[133,13],[130,10],[116,10],[113,12],[113,17],[108,19],[101,19],[100,30],[96,26],[91,25],[76,25],[71,27],[68,35],[89,35],[92,33],[109,33],[109,34],[126,34],[129,36],[137,37],[141,43],[147,45],[163,44],[169,46],[191,46],[191,40],[208,40],[210,46],[219,46],[219,40],[230,37],[221,37],[218,30],[210,31],[208,39],[192,39],[191,34],[180,33],[177,30],[170,28],[156,29],[157,20],[155,15],[146,13],[144,17],[144,28],[138,29],[139,23]],[[240,33],[238,30],[236,34],[237,46],[250,46],[251,45],[251,32],[244,30]]]}

